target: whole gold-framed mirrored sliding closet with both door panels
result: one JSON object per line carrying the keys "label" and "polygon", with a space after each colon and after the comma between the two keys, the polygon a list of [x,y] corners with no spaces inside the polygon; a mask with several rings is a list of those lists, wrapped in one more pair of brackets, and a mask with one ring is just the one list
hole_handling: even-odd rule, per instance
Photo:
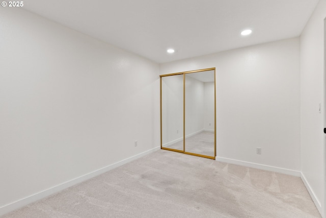
{"label": "whole gold-framed mirrored sliding closet with both door panels", "polygon": [[161,149],[215,159],[215,68],[160,77]]}

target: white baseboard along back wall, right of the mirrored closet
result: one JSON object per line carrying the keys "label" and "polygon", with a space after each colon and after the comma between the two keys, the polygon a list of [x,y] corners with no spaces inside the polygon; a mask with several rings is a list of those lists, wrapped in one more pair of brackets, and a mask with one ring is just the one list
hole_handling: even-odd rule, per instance
{"label": "white baseboard along back wall, right of the mirrored closet", "polygon": [[287,174],[287,175],[296,176],[296,177],[301,176],[300,171],[293,171],[292,169],[268,166],[268,165],[263,165],[263,164],[259,164],[259,163],[252,163],[252,162],[234,160],[234,159],[223,158],[223,157],[216,157],[216,160],[225,162],[225,163],[232,163],[232,164],[237,164],[237,165],[241,165],[241,166],[252,167],[252,168],[256,168],[256,169],[263,169],[265,171]]}

